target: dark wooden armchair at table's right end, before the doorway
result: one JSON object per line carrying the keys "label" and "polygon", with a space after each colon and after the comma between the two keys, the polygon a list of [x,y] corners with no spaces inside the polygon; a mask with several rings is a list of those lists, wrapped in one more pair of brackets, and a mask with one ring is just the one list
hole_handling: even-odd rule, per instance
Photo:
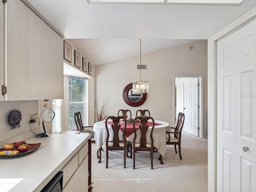
{"label": "dark wooden armchair at table's right end, before the doorway", "polygon": [[[180,152],[180,144],[181,144],[181,131],[182,131],[182,127],[183,127],[183,124],[184,124],[184,120],[185,120],[184,113],[179,113],[176,127],[175,128],[170,127],[171,129],[174,129],[174,131],[166,132],[166,134],[167,134],[166,144],[167,145],[174,145],[176,153],[177,153],[176,145],[178,145],[180,159],[182,159],[181,152]],[[173,134],[173,135],[171,135],[171,134]]]}

